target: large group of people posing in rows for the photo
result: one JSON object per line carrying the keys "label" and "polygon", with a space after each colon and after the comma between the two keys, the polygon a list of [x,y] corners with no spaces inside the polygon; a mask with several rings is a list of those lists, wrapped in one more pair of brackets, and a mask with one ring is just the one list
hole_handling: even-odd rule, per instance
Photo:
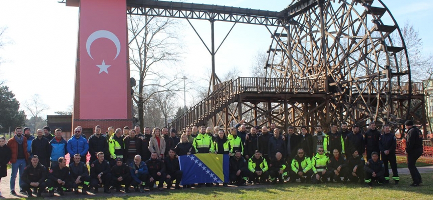
{"label": "large group of people posing in rows for the photo", "polygon": [[[365,133],[360,132],[358,125],[348,130],[346,123],[341,124],[340,130],[331,124],[327,133],[320,125],[314,127],[314,133],[301,126],[296,133],[293,126],[284,132],[275,123],[269,129],[255,126],[247,132],[243,123],[241,120],[230,128],[228,134],[218,126],[187,127],[180,137],[174,128],[169,131],[155,127],[151,131],[145,127],[141,133],[140,126],[109,127],[104,134],[97,125],[88,139],[78,126],[67,141],[61,129],[55,129],[52,135],[50,127],[45,126],[34,137],[30,128],[17,127],[8,141],[0,137],[0,177],[7,175],[6,165],[11,162],[10,192],[16,194],[19,171],[20,193],[28,197],[41,196],[42,192],[54,196],[55,191],[59,195],[65,191],[97,193],[99,188],[105,193],[111,193],[111,189],[119,192],[121,185],[124,192],[130,192],[131,188],[136,192],[164,190],[171,188],[173,181],[175,189],[201,187],[204,183],[180,185],[183,173],[178,156],[217,153],[231,156],[229,184],[237,186],[298,181],[314,184],[351,181],[371,186],[373,182],[389,183],[388,163],[392,180],[395,184],[399,182],[396,137],[389,125],[383,125],[379,131],[373,121]],[[411,120],[405,126],[405,151],[413,179],[410,185],[418,186],[422,179],[415,162],[422,154],[422,134]],[[362,156],[364,151],[367,160]],[[86,163],[88,153],[90,161]]]}

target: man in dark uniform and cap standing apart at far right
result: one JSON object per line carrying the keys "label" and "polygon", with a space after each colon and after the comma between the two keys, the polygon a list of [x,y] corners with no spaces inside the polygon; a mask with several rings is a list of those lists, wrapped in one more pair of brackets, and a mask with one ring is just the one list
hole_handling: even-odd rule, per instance
{"label": "man in dark uniform and cap standing apart at far right", "polygon": [[410,186],[419,186],[422,183],[421,174],[415,166],[416,160],[422,155],[422,133],[413,126],[412,120],[404,122],[407,129],[406,134],[406,153],[407,153],[407,168],[409,168],[410,176],[412,176],[412,184]]}

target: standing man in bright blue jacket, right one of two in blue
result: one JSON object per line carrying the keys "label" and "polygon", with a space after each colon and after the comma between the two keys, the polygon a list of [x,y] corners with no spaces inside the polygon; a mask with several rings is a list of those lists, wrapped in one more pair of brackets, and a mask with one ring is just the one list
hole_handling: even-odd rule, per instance
{"label": "standing man in bright blue jacket, right one of two in blue", "polygon": [[[87,162],[87,152],[89,150],[89,143],[87,143],[87,139],[81,136],[81,130],[79,128],[75,128],[75,134],[73,137],[71,137],[68,140],[68,153],[69,155],[75,155],[80,154],[81,155],[81,161],[86,163]],[[69,163],[74,162],[74,156],[70,156]]]}

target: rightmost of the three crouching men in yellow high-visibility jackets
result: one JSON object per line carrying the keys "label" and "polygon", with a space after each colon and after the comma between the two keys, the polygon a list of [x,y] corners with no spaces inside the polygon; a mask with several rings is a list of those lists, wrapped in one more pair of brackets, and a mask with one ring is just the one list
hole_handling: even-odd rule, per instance
{"label": "rightmost of the three crouching men in yellow high-visibility jackets", "polygon": [[311,166],[313,169],[313,177],[311,181],[314,184],[320,183],[321,181],[327,182],[328,177],[331,177],[332,172],[328,171],[326,165],[329,163],[329,157],[325,155],[323,147],[317,149],[317,154],[311,158]]}

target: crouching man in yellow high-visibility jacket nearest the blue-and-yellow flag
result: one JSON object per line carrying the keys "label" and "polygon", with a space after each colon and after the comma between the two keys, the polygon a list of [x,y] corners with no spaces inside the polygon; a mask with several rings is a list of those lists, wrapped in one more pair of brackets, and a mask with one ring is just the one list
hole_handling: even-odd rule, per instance
{"label": "crouching man in yellow high-visibility jacket nearest the blue-and-yellow flag", "polygon": [[262,157],[259,150],[254,152],[254,156],[248,160],[248,169],[250,170],[250,181],[254,181],[255,184],[260,182],[265,183],[268,180],[268,162]]}

